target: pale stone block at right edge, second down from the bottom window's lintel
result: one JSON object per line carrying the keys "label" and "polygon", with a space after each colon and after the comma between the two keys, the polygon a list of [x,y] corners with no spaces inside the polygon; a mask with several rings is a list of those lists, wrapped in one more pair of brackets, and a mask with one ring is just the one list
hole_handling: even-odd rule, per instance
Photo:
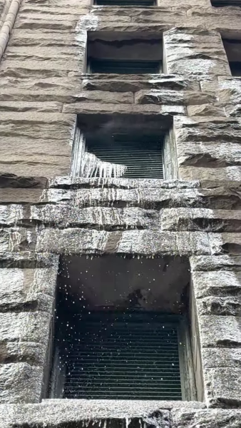
{"label": "pale stone block at right edge, second down from the bottom window's lintel", "polygon": [[[208,264],[209,260],[206,260],[206,263]],[[193,262],[191,262],[191,266],[193,268]],[[192,278],[195,297],[197,298],[241,295],[241,272],[229,272],[226,270],[193,272]]]}

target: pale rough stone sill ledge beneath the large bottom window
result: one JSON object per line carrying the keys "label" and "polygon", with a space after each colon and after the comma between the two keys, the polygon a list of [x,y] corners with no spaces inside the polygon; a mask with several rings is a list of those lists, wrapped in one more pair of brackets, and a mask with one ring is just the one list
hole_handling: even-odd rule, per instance
{"label": "pale rough stone sill ledge beneath the large bottom window", "polygon": [[[98,400],[98,399],[55,399],[43,400],[41,404],[1,405],[0,423],[4,428],[24,428],[26,419],[33,427],[40,428],[48,424],[49,428],[60,428],[61,425],[71,428],[71,425],[82,426],[90,419],[100,422],[105,420],[125,423],[129,419],[140,418],[150,421],[158,417],[163,428],[170,427],[170,409],[185,409],[186,412],[195,412],[202,409],[204,404],[198,402],[153,401],[153,400]],[[0,425],[1,426],[1,425]],[[1,426],[2,428],[2,426]]]}

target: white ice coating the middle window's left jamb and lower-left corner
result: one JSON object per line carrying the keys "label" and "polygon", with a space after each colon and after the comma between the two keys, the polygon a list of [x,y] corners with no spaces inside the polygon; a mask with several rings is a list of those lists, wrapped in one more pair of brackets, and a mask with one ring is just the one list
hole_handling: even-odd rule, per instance
{"label": "white ice coating the middle window's left jamb and lower-left corner", "polygon": [[73,157],[71,165],[71,175],[77,177],[99,177],[99,178],[119,178],[127,166],[101,161],[93,153],[86,151],[86,141],[79,128],[76,129],[73,141]]}

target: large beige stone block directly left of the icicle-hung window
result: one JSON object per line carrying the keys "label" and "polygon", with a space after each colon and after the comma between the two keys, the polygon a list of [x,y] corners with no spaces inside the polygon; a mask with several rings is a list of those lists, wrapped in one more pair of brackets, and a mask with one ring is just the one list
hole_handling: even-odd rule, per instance
{"label": "large beige stone block directly left of the icicle-hung window", "polygon": [[1,172],[46,177],[54,170],[67,173],[75,120],[61,113],[2,112]]}

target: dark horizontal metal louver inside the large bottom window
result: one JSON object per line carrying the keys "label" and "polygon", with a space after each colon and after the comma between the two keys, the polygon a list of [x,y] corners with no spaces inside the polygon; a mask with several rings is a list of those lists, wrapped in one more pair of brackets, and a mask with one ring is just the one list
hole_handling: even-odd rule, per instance
{"label": "dark horizontal metal louver inside the large bottom window", "polygon": [[178,324],[147,312],[73,317],[64,397],[182,399]]}

